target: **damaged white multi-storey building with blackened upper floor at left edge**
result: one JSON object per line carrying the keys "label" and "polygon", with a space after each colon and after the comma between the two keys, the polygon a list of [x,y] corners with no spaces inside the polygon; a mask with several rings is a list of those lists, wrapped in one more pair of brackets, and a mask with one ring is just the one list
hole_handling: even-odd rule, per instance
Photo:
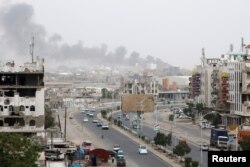
{"label": "damaged white multi-storey building with blackened upper floor at left edge", "polygon": [[44,59],[0,64],[0,132],[44,130]]}

